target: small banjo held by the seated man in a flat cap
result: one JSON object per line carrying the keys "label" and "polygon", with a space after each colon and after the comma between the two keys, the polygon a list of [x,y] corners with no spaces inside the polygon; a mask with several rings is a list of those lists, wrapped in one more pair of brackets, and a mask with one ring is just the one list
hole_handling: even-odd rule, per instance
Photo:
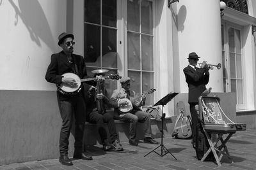
{"label": "small banjo held by the seated man in a flat cap", "polygon": [[131,100],[127,99],[127,98],[122,98],[122,99],[119,99],[119,101],[126,101],[127,104],[125,105],[120,105],[120,107],[118,108],[118,111],[121,113],[121,114],[125,114],[125,113],[128,113],[132,110],[133,108],[133,105],[135,106],[134,102],[138,99],[140,99],[140,97],[142,96],[145,96],[145,94],[152,94],[153,92],[155,92],[156,89],[150,89],[148,90],[147,92],[139,95],[139,96],[136,96],[134,98],[132,98]]}

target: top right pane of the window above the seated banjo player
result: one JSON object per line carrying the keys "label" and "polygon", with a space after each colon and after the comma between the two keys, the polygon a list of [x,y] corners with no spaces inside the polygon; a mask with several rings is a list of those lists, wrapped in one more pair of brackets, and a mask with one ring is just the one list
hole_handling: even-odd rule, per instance
{"label": "top right pane of the window above the seated banjo player", "polygon": [[141,1],[141,32],[152,34],[153,32],[152,1]]}

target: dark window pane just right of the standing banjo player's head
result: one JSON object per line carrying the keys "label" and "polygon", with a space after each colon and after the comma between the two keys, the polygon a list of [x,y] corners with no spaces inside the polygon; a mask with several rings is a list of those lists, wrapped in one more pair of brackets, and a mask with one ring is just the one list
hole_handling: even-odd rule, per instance
{"label": "dark window pane just right of the standing banjo player's head", "polygon": [[100,66],[100,27],[84,25],[84,57],[88,66]]}

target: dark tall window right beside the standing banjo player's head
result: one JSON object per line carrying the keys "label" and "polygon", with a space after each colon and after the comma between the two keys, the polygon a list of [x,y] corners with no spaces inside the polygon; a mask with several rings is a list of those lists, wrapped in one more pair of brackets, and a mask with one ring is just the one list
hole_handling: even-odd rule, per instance
{"label": "dark tall window right beside the standing banjo player's head", "polygon": [[[84,56],[88,74],[94,69],[117,73],[116,0],[84,1]],[[108,93],[116,89],[116,81],[106,81]]]}

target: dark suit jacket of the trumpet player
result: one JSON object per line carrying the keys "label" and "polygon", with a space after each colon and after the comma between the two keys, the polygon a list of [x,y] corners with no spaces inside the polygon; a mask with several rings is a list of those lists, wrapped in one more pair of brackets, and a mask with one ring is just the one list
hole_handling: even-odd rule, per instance
{"label": "dark suit jacket of the trumpet player", "polygon": [[198,97],[206,89],[205,85],[209,82],[210,74],[205,73],[205,69],[187,66],[183,69],[188,83],[188,103],[198,103]]}

